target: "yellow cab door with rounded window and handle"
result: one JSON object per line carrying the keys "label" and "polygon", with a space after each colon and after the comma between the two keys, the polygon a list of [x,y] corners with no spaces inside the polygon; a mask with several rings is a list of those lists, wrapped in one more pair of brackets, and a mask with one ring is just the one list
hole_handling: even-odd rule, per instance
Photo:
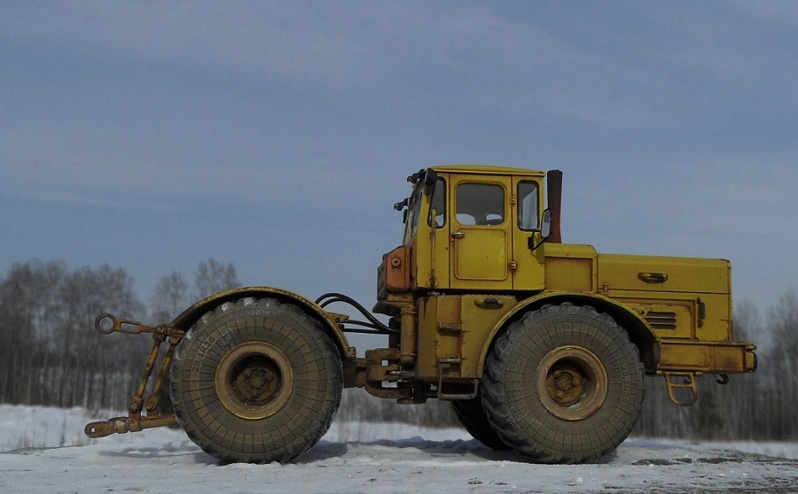
{"label": "yellow cab door with rounded window and handle", "polygon": [[452,289],[512,289],[511,186],[509,177],[452,175]]}

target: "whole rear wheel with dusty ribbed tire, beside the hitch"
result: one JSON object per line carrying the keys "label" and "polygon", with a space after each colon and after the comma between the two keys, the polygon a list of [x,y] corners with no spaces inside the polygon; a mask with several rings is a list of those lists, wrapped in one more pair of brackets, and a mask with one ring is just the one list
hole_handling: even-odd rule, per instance
{"label": "whole rear wheel with dusty ribbed tire, beside the hitch", "polygon": [[340,354],[317,322],[272,298],[225,303],[194,325],[170,371],[177,421],[224,461],[286,462],[330,428]]}

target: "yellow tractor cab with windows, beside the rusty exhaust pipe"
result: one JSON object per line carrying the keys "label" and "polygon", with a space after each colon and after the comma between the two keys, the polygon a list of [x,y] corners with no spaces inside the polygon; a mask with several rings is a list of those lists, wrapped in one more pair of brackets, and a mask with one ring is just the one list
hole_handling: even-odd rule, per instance
{"label": "yellow tractor cab with windows, beside the rusty exhaust pipe", "polygon": [[382,287],[381,295],[544,289],[539,247],[552,226],[552,212],[544,210],[545,176],[495,166],[434,166],[409,176],[412,194],[395,205],[404,215],[402,246],[387,254],[390,263],[382,268],[401,273],[401,282]]}

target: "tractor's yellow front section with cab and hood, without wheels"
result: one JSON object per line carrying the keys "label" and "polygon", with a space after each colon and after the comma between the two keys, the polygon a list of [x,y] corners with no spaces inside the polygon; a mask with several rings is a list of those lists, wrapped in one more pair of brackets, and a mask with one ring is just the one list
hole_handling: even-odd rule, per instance
{"label": "tractor's yellow front section with cab and hood, without wheels", "polygon": [[692,382],[755,369],[754,345],[732,337],[729,261],[546,243],[544,178],[494,166],[434,166],[417,177],[403,245],[384,256],[378,274],[375,312],[395,317],[401,336],[392,346],[400,351],[364,365],[387,361],[418,382],[392,395],[367,379],[367,389],[405,402],[473,396],[490,343],[508,321],[564,302],[612,316],[638,345],[646,371],[666,374],[669,391],[685,386],[673,376]]}

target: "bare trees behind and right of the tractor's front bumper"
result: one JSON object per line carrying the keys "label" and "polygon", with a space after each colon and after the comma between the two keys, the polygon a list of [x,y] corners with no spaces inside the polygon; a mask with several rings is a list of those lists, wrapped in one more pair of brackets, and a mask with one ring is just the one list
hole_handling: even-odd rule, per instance
{"label": "bare trees behind and right of the tractor's front bumper", "polygon": [[798,441],[798,295],[794,289],[762,315],[744,301],[735,306],[734,338],[757,345],[754,374],[699,381],[692,406],[670,403],[662,378],[649,378],[635,434],[654,437]]}

